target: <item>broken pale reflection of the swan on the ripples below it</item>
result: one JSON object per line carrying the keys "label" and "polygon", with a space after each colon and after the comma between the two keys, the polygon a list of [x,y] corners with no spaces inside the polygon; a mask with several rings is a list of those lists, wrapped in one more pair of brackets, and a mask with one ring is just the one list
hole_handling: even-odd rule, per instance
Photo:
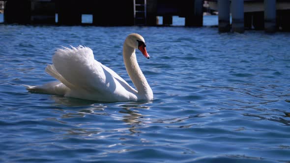
{"label": "broken pale reflection of the swan on the ripples below it", "polygon": [[[62,114],[60,115],[60,119],[51,119],[54,121],[62,121],[61,119],[66,118],[76,118],[76,117],[82,117],[86,118],[86,115],[89,114],[95,114],[96,116],[107,116],[107,118],[120,119],[125,124],[122,124],[123,126],[126,126],[126,130],[130,131],[130,134],[136,134],[141,133],[141,131],[138,131],[139,128],[144,127],[144,124],[148,123],[148,118],[146,118],[146,115],[143,115],[140,113],[140,110],[142,109],[150,109],[153,102],[152,101],[138,101],[138,102],[124,102],[124,103],[96,103],[95,101],[89,101],[89,100],[82,100],[77,98],[67,98],[63,96],[53,95],[51,96],[52,99],[55,100],[55,106],[59,106],[63,109],[59,109]],[[67,110],[65,109],[66,107]],[[118,108],[118,113],[116,115],[116,109]],[[115,110],[111,113],[111,110]],[[100,118],[99,120],[96,120],[96,123],[99,123],[102,120]],[[62,122],[61,122],[62,123]],[[77,123],[77,122],[76,122]],[[91,124],[94,126],[93,122]],[[113,129],[119,130],[119,129]],[[123,130],[123,129],[122,129]],[[71,128],[65,130],[67,135],[80,135],[80,136],[91,136],[95,134],[99,134],[102,132],[108,132],[107,130],[103,129],[92,129],[88,130],[86,128]]]}

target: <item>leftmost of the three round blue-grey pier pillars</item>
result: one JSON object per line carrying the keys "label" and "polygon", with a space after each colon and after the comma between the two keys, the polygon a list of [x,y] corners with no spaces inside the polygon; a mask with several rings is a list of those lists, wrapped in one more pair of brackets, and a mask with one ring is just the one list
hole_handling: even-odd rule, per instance
{"label": "leftmost of the three round blue-grey pier pillars", "polygon": [[229,32],[230,28],[230,0],[218,0],[219,32]]}

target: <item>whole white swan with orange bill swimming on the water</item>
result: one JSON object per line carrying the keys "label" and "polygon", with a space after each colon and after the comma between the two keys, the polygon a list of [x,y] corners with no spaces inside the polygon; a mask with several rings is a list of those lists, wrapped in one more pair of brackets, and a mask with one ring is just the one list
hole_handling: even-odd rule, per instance
{"label": "whole white swan with orange bill swimming on the water", "polygon": [[58,81],[42,86],[25,86],[30,92],[103,102],[152,100],[153,92],[135,54],[135,49],[139,49],[149,59],[145,47],[144,38],[137,33],[129,34],[123,44],[124,64],[137,90],[113,70],[95,60],[92,50],[83,46],[63,47],[56,51],[53,65],[48,65],[45,71]]}

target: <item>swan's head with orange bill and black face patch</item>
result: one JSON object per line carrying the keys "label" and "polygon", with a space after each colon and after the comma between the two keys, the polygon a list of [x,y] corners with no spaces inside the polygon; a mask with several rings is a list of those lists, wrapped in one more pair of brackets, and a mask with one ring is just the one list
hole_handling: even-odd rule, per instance
{"label": "swan's head with orange bill and black face patch", "polygon": [[137,33],[129,34],[125,40],[125,43],[134,49],[139,49],[147,59],[150,58],[145,48],[146,47],[145,40],[140,34]]}

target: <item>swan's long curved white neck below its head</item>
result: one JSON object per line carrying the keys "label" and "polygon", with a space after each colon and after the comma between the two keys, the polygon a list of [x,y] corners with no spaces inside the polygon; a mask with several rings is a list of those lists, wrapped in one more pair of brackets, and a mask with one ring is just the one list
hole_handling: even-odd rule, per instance
{"label": "swan's long curved white neck below its head", "polygon": [[135,49],[124,44],[123,59],[127,73],[138,90],[138,96],[141,99],[150,99],[153,97],[152,90],[137,62]]}

